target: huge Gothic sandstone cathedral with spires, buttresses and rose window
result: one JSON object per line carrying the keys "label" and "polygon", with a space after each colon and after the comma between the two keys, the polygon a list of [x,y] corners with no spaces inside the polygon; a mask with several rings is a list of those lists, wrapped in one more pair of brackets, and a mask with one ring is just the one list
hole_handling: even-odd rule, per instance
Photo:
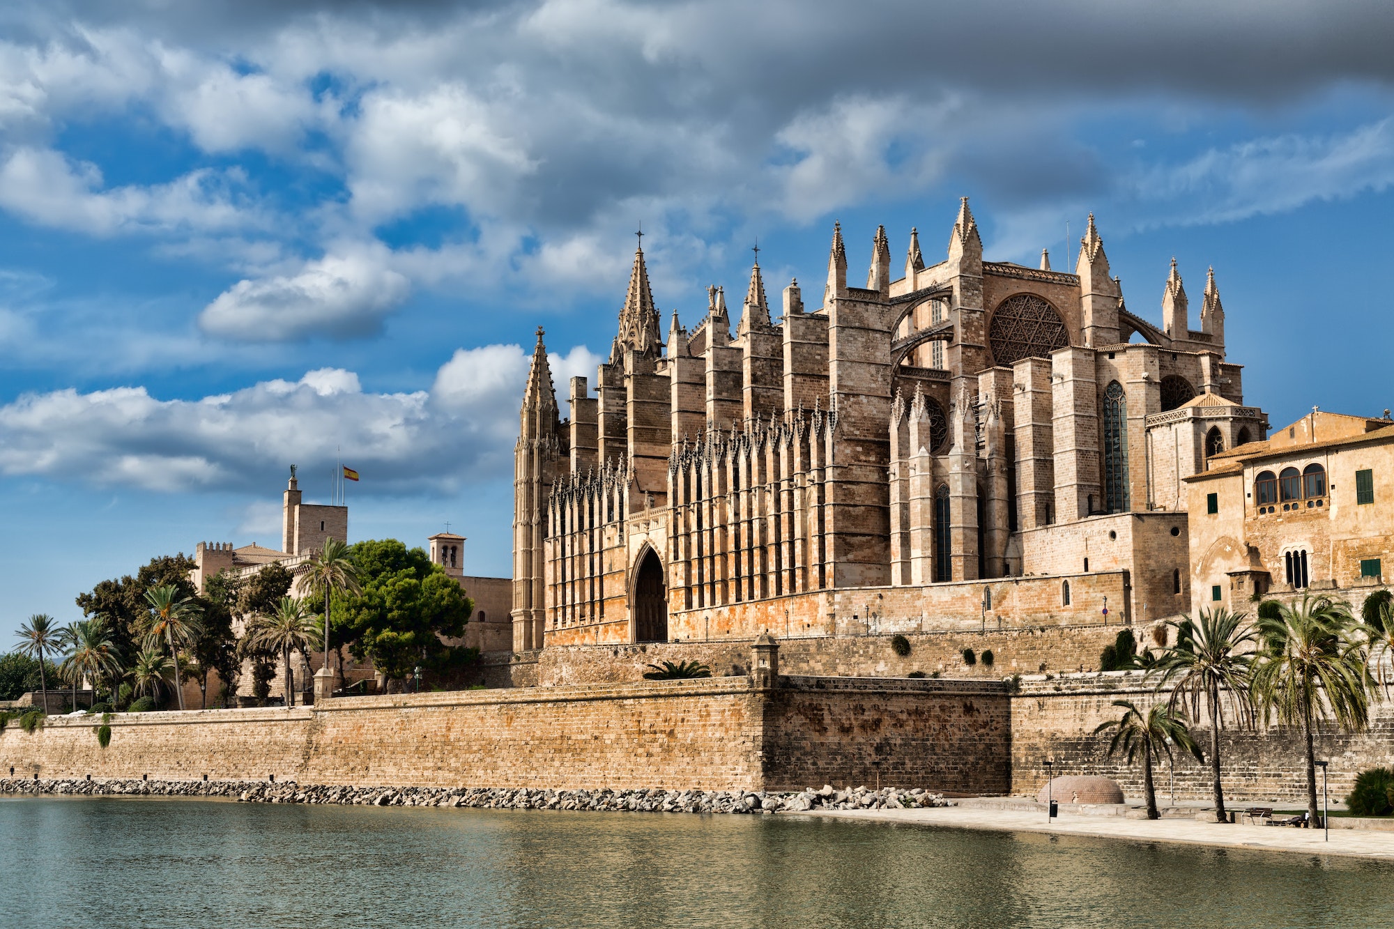
{"label": "huge Gothic sandstone cathedral with spires, buttresses and rose window", "polygon": [[[834,229],[821,305],[733,321],[708,289],[666,339],[636,251],[595,384],[559,402],[538,331],[514,473],[514,650],[1150,622],[1189,607],[1184,478],[1267,438],[1175,261],[1160,325],[1093,216],[1072,272],[984,261],[965,199],[942,261],[885,229],[866,286]],[[811,303],[811,301],[810,301]],[[566,405],[565,418],[560,403]]]}

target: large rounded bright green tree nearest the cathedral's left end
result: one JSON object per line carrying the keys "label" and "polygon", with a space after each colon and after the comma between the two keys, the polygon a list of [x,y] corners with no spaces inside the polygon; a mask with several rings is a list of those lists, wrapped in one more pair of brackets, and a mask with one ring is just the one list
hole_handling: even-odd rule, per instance
{"label": "large rounded bright green tree nearest the cathedral's left end", "polygon": [[330,628],[355,658],[403,681],[417,665],[445,671],[478,657],[477,649],[443,642],[464,635],[474,601],[422,550],[385,538],[357,543],[351,557],[360,591],[335,597],[342,632]]}

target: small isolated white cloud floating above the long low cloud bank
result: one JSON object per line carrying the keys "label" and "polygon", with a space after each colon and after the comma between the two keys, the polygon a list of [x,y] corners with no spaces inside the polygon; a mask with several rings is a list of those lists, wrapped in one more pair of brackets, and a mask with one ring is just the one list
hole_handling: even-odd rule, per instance
{"label": "small isolated white cloud floating above the long low cloud bank", "polygon": [[240,280],[204,308],[199,326],[245,342],[372,335],[411,290],[386,259],[381,246],[351,247],[294,275]]}

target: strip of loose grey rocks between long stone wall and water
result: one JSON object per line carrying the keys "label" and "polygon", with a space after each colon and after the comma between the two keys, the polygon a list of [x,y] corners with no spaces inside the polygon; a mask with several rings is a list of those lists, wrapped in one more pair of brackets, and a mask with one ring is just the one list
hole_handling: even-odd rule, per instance
{"label": "strip of loose grey rocks between long stone wall and water", "polygon": [[333,787],[294,781],[137,781],[0,778],[0,794],[54,796],[213,796],[241,803],[342,803],[357,806],[471,806],[485,809],[584,809],[636,813],[799,813],[817,809],[948,806],[940,794],[884,787],[799,792],[595,790],[488,787]]}

